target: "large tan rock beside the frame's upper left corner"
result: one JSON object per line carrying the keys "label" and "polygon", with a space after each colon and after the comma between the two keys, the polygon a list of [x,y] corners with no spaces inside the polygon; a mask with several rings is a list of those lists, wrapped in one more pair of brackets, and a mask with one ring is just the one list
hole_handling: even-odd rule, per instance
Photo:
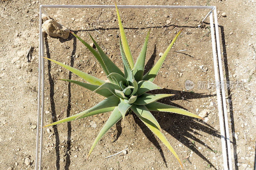
{"label": "large tan rock beside the frame's upper left corner", "polygon": [[61,37],[63,39],[67,39],[69,36],[68,28],[64,27],[53,19],[48,19],[44,22],[42,25],[42,32],[53,37]]}

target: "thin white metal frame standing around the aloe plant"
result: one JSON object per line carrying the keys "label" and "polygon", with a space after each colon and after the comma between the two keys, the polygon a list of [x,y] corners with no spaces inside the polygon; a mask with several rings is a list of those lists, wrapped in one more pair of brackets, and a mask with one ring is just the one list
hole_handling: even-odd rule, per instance
{"label": "thin white metal frame standing around the aloe plant", "polygon": [[[224,80],[223,80],[223,70],[221,64],[221,53],[220,53],[220,38],[219,38],[219,29],[217,21],[217,12],[216,6],[160,6],[160,5],[117,5],[118,8],[158,8],[158,9],[210,9],[211,11],[205,16],[204,20],[210,16],[210,28],[211,28],[211,39],[212,39],[212,53],[213,53],[213,64],[214,64],[214,74],[216,81],[216,92],[217,92],[217,103],[218,103],[218,112],[220,120],[220,134],[221,134],[221,146],[222,146],[222,157],[223,157],[223,166],[225,170],[232,169],[232,159],[231,159],[231,148],[229,140],[229,130],[228,130],[228,115],[227,115],[227,105],[224,89]],[[49,18],[44,8],[115,8],[115,5],[40,5],[40,14],[39,14],[39,80],[38,80],[38,112],[37,112],[37,134],[36,134],[36,165],[35,169],[41,170],[42,166],[42,148],[43,148],[43,132],[44,129],[41,128],[44,126],[44,33],[42,33],[42,11]],[[214,15],[214,24],[213,25],[213,15]],[[50,18],[49,18],[50,19]],[[215,35],[217,43],[217,54],[216,55],[216,45],[215,45]],[[218,57],[217,57],[218,56]],[[218,63],[217,63],[218,58]],[[219,79],[220,76],[220,79]],[[221,92],[220,92],[221,85]],[[40,93],[42,94],[40,95]],[[221,95],[222,94],[222,100]],[[41,105],[40,105],[40,97]],[[222,106],[224,112],[222,112]],[[40,115],[41,112],[41,115]],[[225,120],[225,125],[223,122],[223,115]],[[41,118],[41,124],[40,124]],[[224,131],[226,130],[226,135]],[[39,133],[41,132],[41,135]],[[40,144],[39,144],[40,140]],[[226,146],[227,143],[227,146]],[[40,147],[39,147],[40,145]],[[228,158],[227,151],[228,148]],[[40,152],[39,152],[40,151]],[[40,155],[39,155],[40,154]],[[39,164],[39,166],[38,166]]]}

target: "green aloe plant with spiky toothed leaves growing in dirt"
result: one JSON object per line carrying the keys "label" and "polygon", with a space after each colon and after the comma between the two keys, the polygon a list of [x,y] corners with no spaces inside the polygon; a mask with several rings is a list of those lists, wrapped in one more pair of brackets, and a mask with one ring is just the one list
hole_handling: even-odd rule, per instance
{"label": "green aloe plant with spiky toothed leaves growing in dirt", "polygon": [[[165,50],[164,54],[160,57],[157,63],[144,75],[144,66],[145,66],[145,58],[147,53],[148,46],[148,38],[150,29],[146,36],[146,40],[140,52],[140,55],[134,64],[131,50],[128,45],[128,41],[126,39],[124,28],[122,26],[122,22],[120,19],[120,15],[118,9],[116,7],[118,24],[120,29],[121,39],[120,43],[120,51],[122,60],[124,63],[124,72],[122,72],[104,53],[104,51],[100,48],[98,43],[92,38],[93,43],[95,44],[98,52],[92,48],[88,43],[78,37],[75,33],[71,32],[77,39],[79,39],[96,57],[99,61],[101,67],[103,68],[109,82],[105,82],[100,80],[99,78],[93,77],[87,73],[84,73],[80,70],[77,70],[73,67],[70,67],[66,64],[60,63],[58,61],[54,61],[52,59],[46,58],[54,63],[59,64],[60,66],[68,69],[73,72],[77,76],[83,78],[88,83],[79,82],[75,80],[68,79],[59,79],[66,82],[75,83],[80,85],[86,89],[89,89],[93,92],[96,92],[106,99],[102,100],[100,103],[95,105],[92,108],[89,108],[83,112],[80,112],[76,115],[67,117],[57,122],[53,122],[48,124],[47,126],[56,125],[63,122],[69,122],[76,119],[82,119],[88,116],[97,115],[105,112],[111,112],[111,115],[108,118],[108,121],[100,130],[100,133],[96,137],[95,141],[92,144],[92,148],[88,153],[87,159],[90,156],[92,150],[95,145],[98,143],[100,138],[110,129],[116,122],[118,122],[121,118],[125,118],[125,114],[127,112],[134,112],[140,120],[145,123],[145,125],[157,136],[159,139],[167,146],[167,148],[173,153],[173,155],[178,159],[181,164],[181,161],[173,150],[171,144],[168,142],[164,134],[162,133],[161,127],[156,121],[155,117],[150,113],[150,111],[161,111],[161,112],[171,112],[177,113],[181,115],[187,115],[195,118],[202,119],[200,116],[195,115],[187,110],[174,107],[171,105],[163,104],[157,102],[157,100],[173,96],[174,94],[150,94],[147,93],[150,90],[161,89],[158,85],[154,84],[153,81],[156,78],[158,71],[160,70],[167,54],[172,48],[173,43],[177,39],[180,32],[174,37],[169,47]],[[183,167],[183,166],[182,166]]]}

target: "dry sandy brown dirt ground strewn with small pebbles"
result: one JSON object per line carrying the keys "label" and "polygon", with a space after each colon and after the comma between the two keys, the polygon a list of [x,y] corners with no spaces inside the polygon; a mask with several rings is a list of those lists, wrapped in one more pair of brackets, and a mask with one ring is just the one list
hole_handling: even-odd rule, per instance
{"label": "dry sandy brown dirt ground strewn with small pebbles", "polygon": [[[39,5],[113,4],[113,1],[22,1],[0,0],[0,169],[34,169],[38,93]],[[224,80],[243,87],[226,88],[228,124],[233,169],[252,169],[255,153],[255,53],[256,2],[254,0],[206,1],[118,1],[127,5],[216,5],[218,11]],[[88,32],[118,67],[119,32],[114,9],[46,9],[57,22],[67,26],[88,43]],[[210,109],[207,122],[182,115],[154,112],[185,169],[223,169],[219,117],[214,80],[209,18],[207,10],[120,9],[134,60],[146,33],[152,27],[145,70],[164,52],[175,33],[183,32],[164,61],[154,83],[173,93],[161,102],[199,114]],[[221,16],[226,13],[226,17]],[[171,22],[167,24],[167,20]],[[200,25],[198,27],[198,25]],[[95,29],[98,31],[95,31]],[[108,36],[112,34],[112,36]],[[100,64],[80,41],[45,35],[45,56],[66,62],[93,76],[106,79]],[[32,46],[32,60],[26,53]],[[187,49],[182,53],[175,51]],[[203,65],[203,66],[202,66]],[[182,73],[182,74],[180,74]],[[58,78],[80,80],[60,66],[45,61],[44,124],[54,122],[97,104],[103,98]],[[185,81],[195,83],[185,89]],[[198,88],[205,81],[206,87]],[[198,112],[196,110],[198,109]],[[93,140],[110,113],[63,123],[44,129],[42,169],[181,169],[162,142],[133,114],[119,121],[102,137],[85,161]],[[51,136],[51,137],[50,137]],[[111,158],[105,157],[127,148]],[[185,159],[187,158],[188,159]],[[25,164],[29,158],[31,163]],[[28,160],[28,159],[27,159]]]}

